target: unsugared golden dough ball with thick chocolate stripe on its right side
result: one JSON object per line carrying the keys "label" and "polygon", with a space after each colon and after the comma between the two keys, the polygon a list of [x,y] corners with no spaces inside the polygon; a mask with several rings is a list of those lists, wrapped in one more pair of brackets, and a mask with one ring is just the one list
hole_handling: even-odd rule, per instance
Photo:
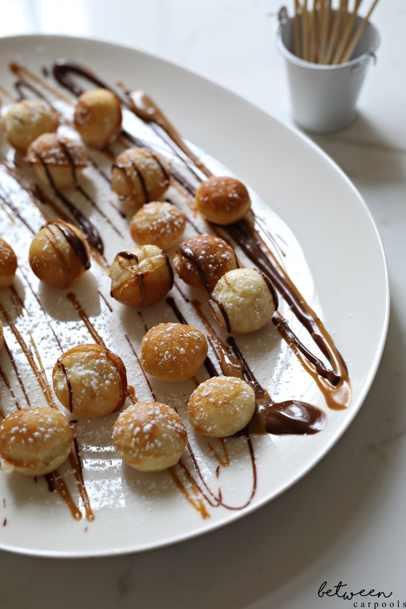
{"label": "unsugared golden dough ball with thick chocolate stripe on its right side", "polygon": [[47,285],[69,287],[90,268],[90,248],[79,228],[52,220],[33,238],[29,262],[33,273]]}

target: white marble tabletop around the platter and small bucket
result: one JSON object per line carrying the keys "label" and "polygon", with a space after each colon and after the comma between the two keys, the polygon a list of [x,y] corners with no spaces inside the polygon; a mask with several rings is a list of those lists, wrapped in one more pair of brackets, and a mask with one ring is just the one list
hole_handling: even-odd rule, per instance
{"label": "white marble tabletop around the platter and small bucket", "polygon": [[[275,47],[278,0],[1,4],[0,35],[65,33],[124,43],[192,69],[290,122],[284,65]],[[330,587],[346,583],[352,592],[392,593],[386,607],[405,606],[404,0],[381,0],[373,21],[382,44],[357,121],[341,133],[313,138],[365,198],[387,253],[388,340],[360,414],[295,487],[217,532],[146,554],[97,560],[0,553],[2,607],[385,607],[383,597],[320,599],[325,580]]]}

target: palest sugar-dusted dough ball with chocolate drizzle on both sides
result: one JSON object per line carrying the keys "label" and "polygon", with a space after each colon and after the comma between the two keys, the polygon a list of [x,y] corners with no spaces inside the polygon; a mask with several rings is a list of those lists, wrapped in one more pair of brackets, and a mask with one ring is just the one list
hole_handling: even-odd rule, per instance
{"label": "palest sugar-dusted dough ball with chocolate drizzle on both sides", "polygon": [[209,305],[222,328],[248,334],[268,323],[278,306],[278,297],[264,273],[235,269],[217,281]]}

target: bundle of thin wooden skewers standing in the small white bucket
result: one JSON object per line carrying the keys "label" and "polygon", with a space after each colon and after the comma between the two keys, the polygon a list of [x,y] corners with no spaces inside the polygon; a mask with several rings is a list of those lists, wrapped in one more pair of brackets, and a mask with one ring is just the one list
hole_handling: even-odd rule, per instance
{"label": "bundle of thin wooden skewers standing in the small white bucket", "polygon": [[339,2],[334,8],[332,0],[295,0],[295,55],[308,62],[330,65],[351,59],[378,0],[373,1],[362,19],[362,0],[354,0],[352,8],[349,0]]}

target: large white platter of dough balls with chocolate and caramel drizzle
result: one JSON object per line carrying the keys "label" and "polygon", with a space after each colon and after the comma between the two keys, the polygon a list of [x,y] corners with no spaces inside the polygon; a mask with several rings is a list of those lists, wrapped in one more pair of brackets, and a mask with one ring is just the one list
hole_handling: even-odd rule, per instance
{"label": "large white platter of dough balls with chocolate and caramel drizzle", "polygon": [[0,57],[0,547],[142,551],[275,499],[379,365],[365,203],[299,133],[159,58],[38,36]]}

